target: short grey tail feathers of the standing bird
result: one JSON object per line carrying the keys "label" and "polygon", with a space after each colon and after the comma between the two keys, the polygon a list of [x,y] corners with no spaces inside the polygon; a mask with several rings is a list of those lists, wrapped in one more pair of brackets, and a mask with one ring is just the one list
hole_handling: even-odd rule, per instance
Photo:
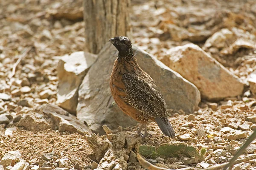
{"label": "short grey tail feathers of the standing bird", "polygon": [[167,117],[158,117],[155,121],[164,135],[172,138],[175,137],[175,132]]}

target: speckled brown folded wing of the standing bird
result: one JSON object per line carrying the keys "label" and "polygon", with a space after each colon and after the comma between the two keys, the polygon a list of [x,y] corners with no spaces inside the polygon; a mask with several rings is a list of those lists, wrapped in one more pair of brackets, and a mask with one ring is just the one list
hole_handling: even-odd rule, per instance
{"label": "speckled brown folded wing of the standing bird", "polygon": [[125,102],[148,116],[154,118],[166,116],[167,106],[163,95],[148,74],[145,72],[143,76],[124,74],[122,79],[127,94],[124,97]]}

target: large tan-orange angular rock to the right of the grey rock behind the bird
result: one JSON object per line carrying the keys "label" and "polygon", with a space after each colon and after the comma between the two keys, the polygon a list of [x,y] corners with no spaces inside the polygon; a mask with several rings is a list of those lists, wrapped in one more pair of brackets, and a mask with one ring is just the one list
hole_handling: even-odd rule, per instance
{"label": "large tan-orange angular rock to the right of the grey rock behind the bird", "polygon": [[198,45],[190,43],[171,48],[161,61],[196,85],[204,99],[237,96],[244,90],[238,77]]}

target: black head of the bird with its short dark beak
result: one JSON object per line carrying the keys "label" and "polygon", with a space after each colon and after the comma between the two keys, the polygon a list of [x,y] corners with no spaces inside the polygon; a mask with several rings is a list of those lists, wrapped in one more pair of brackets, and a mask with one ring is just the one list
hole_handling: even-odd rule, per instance
{"label": "black head of the bird with its short dark beak", "polygon": [[119,36],[111,38],[108,42],[111,42],[119,52],[119,55],[133,54],[131,40],[125,36]]}

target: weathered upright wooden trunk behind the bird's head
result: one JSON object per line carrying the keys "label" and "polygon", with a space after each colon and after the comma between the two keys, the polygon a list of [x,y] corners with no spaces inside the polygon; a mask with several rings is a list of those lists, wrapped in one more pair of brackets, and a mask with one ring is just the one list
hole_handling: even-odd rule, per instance
{"label": "weathered upright wooden trunk behind the bird's head", "polygon": [[131,34],[130,0],[84,0],[85,51],[98,54],[109,39]]}

